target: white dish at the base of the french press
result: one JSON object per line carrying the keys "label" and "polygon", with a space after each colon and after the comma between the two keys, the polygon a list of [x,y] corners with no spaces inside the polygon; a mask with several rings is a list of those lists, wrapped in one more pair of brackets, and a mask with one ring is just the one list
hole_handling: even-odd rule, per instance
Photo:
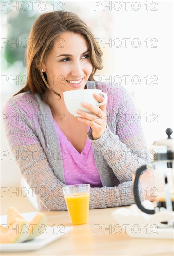
{"label": "white dish at the base of the french press", "polygon": [[[146,209],[154,207],[148,200],[142,204]],[[155,214],[147,214],[133,204],[129,208],[122,207],[115,210],[112,216],[120,224],[121,230],[133,238],[174,239],[174,228],[160,223],[168,221],[173,225],[174,212],[172,211],[165,209]]]}

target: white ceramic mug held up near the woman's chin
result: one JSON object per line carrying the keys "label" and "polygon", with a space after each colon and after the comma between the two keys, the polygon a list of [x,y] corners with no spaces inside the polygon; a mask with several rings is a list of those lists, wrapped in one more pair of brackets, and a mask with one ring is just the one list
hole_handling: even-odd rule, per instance
{"label": "white ceramic mug held up near the woman's chin", "polygon": [[[103,95],[104,101],[99,103],[94,98],[94,93]],[[77,109],[91,113],[91,111],[82,107],[81,103],[84,101],[98,107],[105,105],[107,103],[107,94],[97,89],[66,91],[66,92],[63,92],[63,98],[65,101],[67,110],[74,116],[80,116],[79,114],[76,113]]]}

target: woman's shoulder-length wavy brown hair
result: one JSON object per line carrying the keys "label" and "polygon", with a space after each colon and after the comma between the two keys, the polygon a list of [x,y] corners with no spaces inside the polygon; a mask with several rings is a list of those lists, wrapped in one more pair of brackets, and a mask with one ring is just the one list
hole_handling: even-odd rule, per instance
{"label": "woman's shoulder-length wavy brown hair", "polygon": [[13,96],[30,91],[39,94],[46,93],[51,89],[47,83],[47,76],[42,72],[42,64],[45,62],[48,54],[54,47],[57,37],[65,32],[81,34],[89,45],[90,59],[93,66],[92,73],[89,76],[90,81],[94,81],[96,70],[101,70],[102,51],[96,44],[94,35],[90,28],[75,14],[67,11],[54,11],[44,13],[35,20],[28,38],[26,51],[27,81],[25,86]]}

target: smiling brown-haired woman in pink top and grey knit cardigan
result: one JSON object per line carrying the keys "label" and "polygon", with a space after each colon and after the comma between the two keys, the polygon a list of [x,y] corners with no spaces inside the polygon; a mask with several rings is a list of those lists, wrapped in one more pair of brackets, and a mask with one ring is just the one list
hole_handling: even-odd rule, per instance
{"label": "smiling brown-haired woman in pink top and grey knit cardigan", "polygon": [[[26,56],[27,83],[3,112],[9,144],[39,209],[66,210],[62,187],[79,183],[91,184],[90,209],[134,203],[132,178],[148,162],[146,143],[132,119],[137,110],[130,93],[94,81],[102,51],[91,30],[74,13],[45,13],[33,24]],[[83,102],[94,114],[79,109],[81,117],[67,111],[64,91],[95,88],[107,93],[106,105]],[[148,171],[139,183],[141,200],[147,187]]]}

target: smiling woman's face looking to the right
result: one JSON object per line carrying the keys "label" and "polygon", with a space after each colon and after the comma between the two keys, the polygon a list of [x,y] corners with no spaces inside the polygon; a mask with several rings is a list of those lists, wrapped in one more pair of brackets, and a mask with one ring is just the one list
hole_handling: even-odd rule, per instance
{"label": "smiling woman's face looking to the right", "polygon": [[61,34],[42,68],[49,86],[60,95],[84,89],[93,69],[87,41],[81,34]]}

